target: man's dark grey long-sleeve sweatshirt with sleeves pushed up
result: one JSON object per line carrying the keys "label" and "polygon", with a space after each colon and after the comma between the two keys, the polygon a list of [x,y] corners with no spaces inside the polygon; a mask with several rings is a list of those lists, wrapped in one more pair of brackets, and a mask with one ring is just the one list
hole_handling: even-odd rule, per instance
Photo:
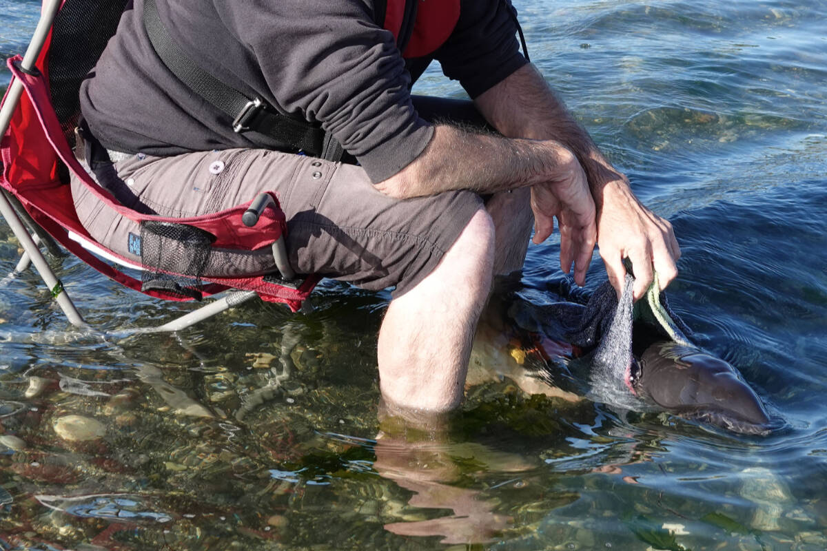
{"label": "man's dark grey long-sleeve sweatshirt with sleeves pushed up", "polygon": [[[275,148],[266,136],[233,132],[226,115],[165,68],[146,36],[143,3],[135,0],[124,13],[81,86],[81,109],[98,140],[155,155]],[[374,182],[403,169],[433,135],[411,104],[410,74],[394,36],[374,21],[373,0],[156,3],[190,59],[248,97],[320,122]],[[509,9],[505,0],[461,0],[457,25],[431,55],[471,97],[526,63]],[[399,36],[414,21],[402,26]]]}

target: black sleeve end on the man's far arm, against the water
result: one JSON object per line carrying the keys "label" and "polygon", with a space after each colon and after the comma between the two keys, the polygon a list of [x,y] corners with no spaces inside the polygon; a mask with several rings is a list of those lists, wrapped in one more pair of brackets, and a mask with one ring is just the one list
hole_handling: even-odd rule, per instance
{"label": "black sleeve end on the man's far arm, against the water", "polygon": [[509,0],[462,0],[460,19],[435,57],[471,98],[528,63],[519,51]]}

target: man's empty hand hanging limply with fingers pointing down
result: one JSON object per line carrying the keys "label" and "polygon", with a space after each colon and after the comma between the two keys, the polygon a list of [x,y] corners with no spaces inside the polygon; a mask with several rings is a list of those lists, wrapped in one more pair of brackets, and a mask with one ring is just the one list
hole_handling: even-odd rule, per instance
{"label": "man's empty hand hanging limply with fingers pointing down", "polygon": [[560,231],[560,268],[569,273],[574,263],[575,281],[583,285],[597,238],[595,202],[586,182],[586,173],[574,154],[566,166],[556,178],[531,188],[533,242],[543,243],[552,235],[556,216]]}

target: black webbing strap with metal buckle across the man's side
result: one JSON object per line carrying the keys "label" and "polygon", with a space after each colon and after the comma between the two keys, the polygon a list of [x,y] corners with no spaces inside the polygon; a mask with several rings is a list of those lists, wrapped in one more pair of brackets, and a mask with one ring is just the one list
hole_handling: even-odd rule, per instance
{"label": "black webbing strap with metal buckle across the man's side", "polygon": [[166,68],[187,88],[229,116],[233,131],[256,131],[270,136],[285,148],[326,160],[342,159],[342,145],[320,127],[277,112],[261,97],[246,97],[195,64],[170,37],[160,21],[155,0],[144,2],[143,22],[155,54]]}

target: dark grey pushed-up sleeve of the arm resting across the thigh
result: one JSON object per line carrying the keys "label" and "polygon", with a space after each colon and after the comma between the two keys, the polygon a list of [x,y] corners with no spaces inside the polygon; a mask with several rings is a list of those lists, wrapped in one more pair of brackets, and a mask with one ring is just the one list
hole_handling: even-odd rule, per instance
{"label": "dark grey pushed-up sleeve of the arm resting across the thigh", "polygon": [[411,104],[394,37],[365,2],[252,0],[224,15],[261,67],[275,105],[319,121],[373,182],[398,173],[433,127]]}

